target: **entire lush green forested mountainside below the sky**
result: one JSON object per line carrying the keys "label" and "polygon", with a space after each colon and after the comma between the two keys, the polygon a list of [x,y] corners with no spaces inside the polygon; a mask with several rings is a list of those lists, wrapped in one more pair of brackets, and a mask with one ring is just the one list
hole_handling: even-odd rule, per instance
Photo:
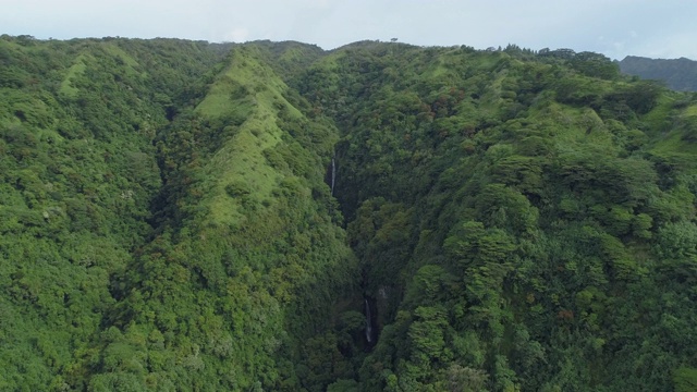
{"label": "entire lush green forested mountainside below the sky", "polygon": [[590,52],[0,37],[0,389],[692,391],[697,97]]}

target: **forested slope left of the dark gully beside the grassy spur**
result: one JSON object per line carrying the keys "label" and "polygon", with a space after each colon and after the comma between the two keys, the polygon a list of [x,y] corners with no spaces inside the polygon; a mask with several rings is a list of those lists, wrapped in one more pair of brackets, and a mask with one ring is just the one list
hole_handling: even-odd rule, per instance
{"label": "forested slope left of the dark gully beside the grassy spur", "polygon": [[[4,390],[62,388],[100,333],[112,277],[151,232],[150,140],[216,61],[195,42],[127,46],[0,40]],[[172,52],[196,60],[174,72]]]}

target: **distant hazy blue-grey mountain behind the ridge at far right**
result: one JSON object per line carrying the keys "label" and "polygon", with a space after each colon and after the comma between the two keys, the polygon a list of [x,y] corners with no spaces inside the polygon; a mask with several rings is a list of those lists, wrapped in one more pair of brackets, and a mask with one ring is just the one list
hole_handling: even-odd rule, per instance
{"label": "distant hazy blue-grey mountain behind the ridge at far right", "polygon": [[627,56],[620,61],[620,70],[641,78],[664,81],[674,90],[697,91],[697,61],[694,60]]}

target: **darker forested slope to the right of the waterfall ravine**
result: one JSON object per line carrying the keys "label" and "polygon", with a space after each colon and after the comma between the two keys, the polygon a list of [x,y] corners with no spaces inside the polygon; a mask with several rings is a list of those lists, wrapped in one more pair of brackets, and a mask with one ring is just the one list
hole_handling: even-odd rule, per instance
{"label": "darker forested slope to the right of the waterfall ravine", "polygon": [[697,102],[560,54],[365,42],[308,73],[383,314],[360,389],[694,385]]}

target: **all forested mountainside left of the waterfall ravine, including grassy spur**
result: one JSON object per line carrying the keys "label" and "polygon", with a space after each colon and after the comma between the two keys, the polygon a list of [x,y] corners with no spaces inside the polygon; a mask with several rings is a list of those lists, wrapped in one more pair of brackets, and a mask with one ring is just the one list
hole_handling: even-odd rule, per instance
{"label": "all forested mountainside left of the waterfall ravine, including grassy spur", "polygon": [[1,45],[2,388],[299,389],[355,258],[273,53]]}

